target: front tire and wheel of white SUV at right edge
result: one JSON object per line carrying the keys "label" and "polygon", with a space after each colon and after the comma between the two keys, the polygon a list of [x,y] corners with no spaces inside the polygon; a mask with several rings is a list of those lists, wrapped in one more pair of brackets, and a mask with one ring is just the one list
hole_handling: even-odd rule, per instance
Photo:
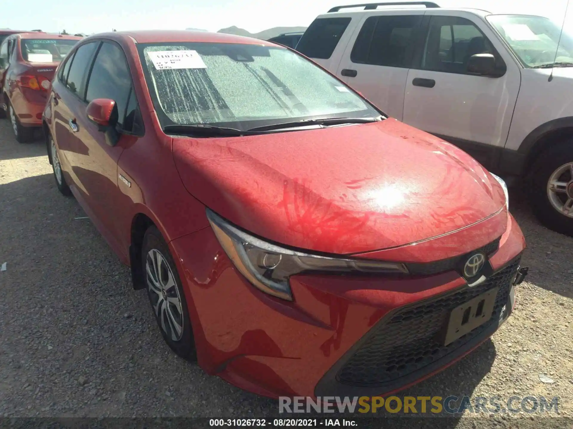
{"label": "front tire and wheel of white SUV at right edge", "polygon": [[531,171],[533,212],[545,227],[573,236],[573,146],[567,143],[547,150]]}

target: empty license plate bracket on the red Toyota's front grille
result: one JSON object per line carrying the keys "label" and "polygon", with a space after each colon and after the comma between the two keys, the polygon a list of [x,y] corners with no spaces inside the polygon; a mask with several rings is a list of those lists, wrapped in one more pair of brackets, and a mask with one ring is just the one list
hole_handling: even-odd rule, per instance
{"label": "empty license plate bracket on the red Toyota's front grille", "polygon": [[489,291],[454,308],[450,312],[444,345],[453,343],[491,319],[498,291],[499,287],[489,289]]}

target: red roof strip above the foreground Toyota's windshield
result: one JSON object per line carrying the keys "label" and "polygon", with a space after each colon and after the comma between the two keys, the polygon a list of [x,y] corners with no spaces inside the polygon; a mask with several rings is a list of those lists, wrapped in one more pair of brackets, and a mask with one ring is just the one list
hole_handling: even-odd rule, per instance
{"label": "red roof strip above the foreground Toyota's windshield", "polygon": [[245,43],[249,45],[271,45],[271,43],[243,37],[234,34],[210,33],[208,31],[190,30],[141,30],[141,31],[114,31],[113,33],[100,33],[90,36],[90,38],[131,38],[136,43],[156,43],[156,42],[207,42],[207,43]]}

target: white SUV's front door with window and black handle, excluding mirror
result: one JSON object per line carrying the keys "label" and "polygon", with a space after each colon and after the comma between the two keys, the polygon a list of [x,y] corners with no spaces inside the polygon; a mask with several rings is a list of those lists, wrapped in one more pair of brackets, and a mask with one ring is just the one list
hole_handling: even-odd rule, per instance
{"label": "white SUV's front door with window and black handle, excluding mirror", "polygon": [[[496,35],[473,15],[431,13],[419,63],[408,73],[403,121],[460,146],[492,168],[492,149],[503,148],[507,140],[520,70]],[[468,74],[469,58],[480,53],[505,63],[505,75]]]}

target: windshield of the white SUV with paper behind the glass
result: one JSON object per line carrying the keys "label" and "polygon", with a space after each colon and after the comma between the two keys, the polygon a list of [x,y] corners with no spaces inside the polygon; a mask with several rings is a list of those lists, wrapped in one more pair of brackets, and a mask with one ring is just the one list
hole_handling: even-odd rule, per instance
{"label": "windshield of the white SUV with paper behind the glass", "polygon": [[[573,41],[550,19],[528,15],[490,15],[488,21],[527,67],[573,63]],[[559,43],[559,50],[557,45]],[[557,53],[557,57],[555,57]]]}

